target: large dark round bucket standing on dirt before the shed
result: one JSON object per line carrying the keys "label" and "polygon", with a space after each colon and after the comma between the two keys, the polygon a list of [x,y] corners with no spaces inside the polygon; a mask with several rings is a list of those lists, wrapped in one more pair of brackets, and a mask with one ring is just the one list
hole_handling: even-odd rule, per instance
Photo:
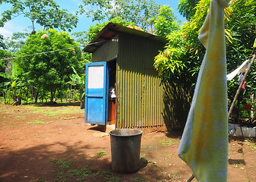
{"label": "large dark round bucket standing on dirt before the shed", "polygon": [[112,169],[118,173],[135,173],[140,168],[142,130],[110,131]]}

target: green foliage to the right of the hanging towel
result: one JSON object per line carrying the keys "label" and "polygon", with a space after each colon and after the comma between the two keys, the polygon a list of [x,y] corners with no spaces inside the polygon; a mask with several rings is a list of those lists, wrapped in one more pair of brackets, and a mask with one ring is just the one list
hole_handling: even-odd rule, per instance
{"label": "green foliage to the right of the hanging towel", "polygon": [[[228,73],[234,71],[243,61],[248,59],[251,61],[250,55],[253,49],[254,39],[256,38],[256,2],[254,0],[237,0],[232,3],[231,7],[229,11],[235,14],[236,17],[239,17],[248,27],[235,16],[226,12],[228,17],[226,26],[229,27],[232,33],[232,43],[229,43],[226,47]],[[248,102],[249,96],[256,92],[255,68],[255,64],[253,64],[245,80],[245,89],[240,93],[238,102],[245,104],[245,102]],[[238,77],[235,77],[234,80],[229,82],[228,95],[230,101],[234,99],[237,89]]]}

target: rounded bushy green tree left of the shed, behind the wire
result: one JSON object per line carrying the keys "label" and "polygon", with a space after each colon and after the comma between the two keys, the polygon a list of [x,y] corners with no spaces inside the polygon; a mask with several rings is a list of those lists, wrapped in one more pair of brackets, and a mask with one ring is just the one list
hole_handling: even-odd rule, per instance
{"label": "rounded bushy green tree left of the shed, behind the wire", "polygon": [[17,62],[24,72],[29,72],[28,77],[34,80],[37,93],[50,92],[50,102],[53,102],[56,89],[66,85],[73,73],[72,67],[78,73],[82,72],[81,49],[66,32],[58,33],[53,29],[38,31],[27,38],[18,55],[30,55],[18,58]]}

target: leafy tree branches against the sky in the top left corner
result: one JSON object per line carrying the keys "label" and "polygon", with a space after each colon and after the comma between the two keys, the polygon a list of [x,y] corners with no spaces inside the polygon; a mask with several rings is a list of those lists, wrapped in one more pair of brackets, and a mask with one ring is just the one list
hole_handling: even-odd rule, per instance
{"label": "leafy tree branches against the sky in the top left corner", "polygon": [[11,9],[2,13],[0,27],[4,27],[8,20],[19,15],[30,19],[32,33],[35,33],[35,23],[40,24],[44,30],[58,28],[64,31],[71,31],[78,23],[78,17],[68,14],[66,9],[60,9],[53,0],[2,0],[1,2],[11,4]]}

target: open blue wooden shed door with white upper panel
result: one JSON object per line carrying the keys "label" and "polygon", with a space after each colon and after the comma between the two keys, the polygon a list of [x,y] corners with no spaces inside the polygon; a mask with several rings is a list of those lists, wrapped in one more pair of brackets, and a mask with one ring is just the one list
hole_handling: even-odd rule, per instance
{"label": "open blue wooden shed door with white upper panel", "polygon": [[107,62],[87,63],[85,68],[85,122],[102,124],[108,115]]}

